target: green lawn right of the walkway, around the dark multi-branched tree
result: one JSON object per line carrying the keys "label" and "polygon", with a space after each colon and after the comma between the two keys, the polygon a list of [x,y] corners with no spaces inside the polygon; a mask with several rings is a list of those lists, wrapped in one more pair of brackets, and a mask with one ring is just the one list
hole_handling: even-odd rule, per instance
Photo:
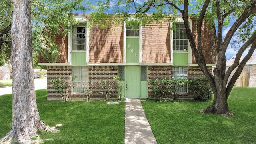
{"label": "green lawn right of the walkway, around the dark multi-branched tree", "polygon": [[234,116],[200,114],[212,102],[142,101],[158,144],[256,143],[256,88],[234,88],[228,99]]}

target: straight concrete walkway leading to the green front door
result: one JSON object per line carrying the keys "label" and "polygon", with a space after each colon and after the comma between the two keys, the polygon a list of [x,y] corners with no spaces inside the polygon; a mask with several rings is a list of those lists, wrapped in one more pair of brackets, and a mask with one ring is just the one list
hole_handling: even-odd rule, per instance
{"label": "straight concrete walkway leading to the green front door", "polygon": [[157,144],[140,100],[125,100],[124,144]]}

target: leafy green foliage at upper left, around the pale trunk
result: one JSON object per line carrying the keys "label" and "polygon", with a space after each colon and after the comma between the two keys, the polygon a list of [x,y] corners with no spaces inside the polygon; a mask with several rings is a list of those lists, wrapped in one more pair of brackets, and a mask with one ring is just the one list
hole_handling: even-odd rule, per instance
{"label": "leafy green foliage at upper left, around the pale trunk", "polygon": [[[76,10],[85,11],[83,0],[31,0],[31,20],[33,36],[34,65],[38,54],[48,62],[55,62],[60,55],[59,47],[54,44],[55,36],[68,34]],[[12,0],[0,2],[0,66],[10,61]]]}

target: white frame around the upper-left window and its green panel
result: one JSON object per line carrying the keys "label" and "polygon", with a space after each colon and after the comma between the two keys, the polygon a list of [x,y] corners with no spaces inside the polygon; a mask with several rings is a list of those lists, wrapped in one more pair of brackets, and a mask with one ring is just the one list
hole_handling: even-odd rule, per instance
{"label": "white frame around the upper-left window and its green panel", "polygon": [[76,22],[86,22],[86,50],[72,50],[72,32],[68,34],[68,62],[72,63],[72,52],[86,52],[86,62],[89,63],[90,28],[89,20],[84,16],[74,16]]}

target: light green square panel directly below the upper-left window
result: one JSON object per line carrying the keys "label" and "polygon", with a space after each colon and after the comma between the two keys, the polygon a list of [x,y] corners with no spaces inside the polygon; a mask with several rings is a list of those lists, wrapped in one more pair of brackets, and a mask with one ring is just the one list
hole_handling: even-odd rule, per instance
{"label": "light green square panel directly below the upper-left window", "polygon": [[72,52],[72,66],[85,66],[86,52]]}

